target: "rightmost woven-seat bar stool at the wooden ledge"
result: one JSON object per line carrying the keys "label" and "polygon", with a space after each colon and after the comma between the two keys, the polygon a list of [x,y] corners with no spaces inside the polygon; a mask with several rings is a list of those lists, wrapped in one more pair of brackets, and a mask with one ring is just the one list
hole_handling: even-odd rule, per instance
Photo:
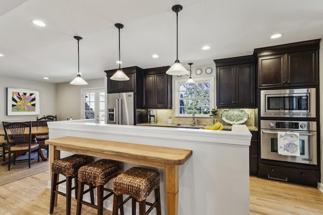
{"label": "rightmost woven-seat bar stool at the wooden ledge", "polygon": [[[159,183],[160,176],[156,170],[133,167],[120,174],[113,181],[115,194],[112,214],[117,215],[119,208],[131,198],[132,214],[136,214],[136,201],[138,201],[140,215],[150,213],[154,207],[156,207],[157,215],[161,215]],[[155,192],[155,202],[146,202],[152,190]],[[123,201],[122,194],[129,195],[129,197]],[[147,211],[146,204],[150,206]]]}

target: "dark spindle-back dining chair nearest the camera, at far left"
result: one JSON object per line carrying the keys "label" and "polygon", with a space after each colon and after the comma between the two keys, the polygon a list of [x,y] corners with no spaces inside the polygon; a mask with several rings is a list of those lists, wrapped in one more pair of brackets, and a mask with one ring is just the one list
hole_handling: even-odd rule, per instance
{"label": "dark spindle-back dining chair nearest the camera, at far left", "polygon": [[[31,143],[31,122],[29,123],[6,123],[3,122],[7,144],[8,144],[8,170],[11,166],[11,156],[13,155],[13,164],[18,162],[28,162],[29,168],[32,162],[36,159],[39,162],[39,144]],[[28,129],[27,134],[25,134],[25,129]],[[8,133],[10,130],[10,134]],[[11,138],[9,138],[11,136]],[[31,152],[37,150],[37,157],[31,158]],[[17,157],[28,152],[28,158],[19,159]]]}

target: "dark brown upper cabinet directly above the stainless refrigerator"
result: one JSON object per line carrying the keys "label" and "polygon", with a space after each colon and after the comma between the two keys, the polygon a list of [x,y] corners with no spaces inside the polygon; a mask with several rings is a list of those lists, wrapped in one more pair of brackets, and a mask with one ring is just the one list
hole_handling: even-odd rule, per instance
{"label": "dark brown upper cabinet directly above the stainless refrigerator", "polygon": [[117,69],[104,71],[107,77],[107,93],[136,92],[141,94],[142,69],[139,67],[127,67],[122,70],[129,77],[128,81],[114,81],[110,79]]}

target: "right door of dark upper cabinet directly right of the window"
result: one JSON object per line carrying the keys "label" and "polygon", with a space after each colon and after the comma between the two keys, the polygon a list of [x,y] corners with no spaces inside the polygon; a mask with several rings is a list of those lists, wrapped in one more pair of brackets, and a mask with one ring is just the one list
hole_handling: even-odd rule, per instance
{"label": "right door of dark upper cabinet directly right of the window", "polygon": [[235,67],[235,104],[240,107],[255,105],[254,64],[240,64]]}

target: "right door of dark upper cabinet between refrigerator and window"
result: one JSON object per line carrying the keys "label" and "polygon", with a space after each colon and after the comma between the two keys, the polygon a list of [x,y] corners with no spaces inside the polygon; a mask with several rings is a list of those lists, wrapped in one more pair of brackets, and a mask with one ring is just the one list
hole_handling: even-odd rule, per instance
{"label": "right door of dark upper cabinet between refrigerator and window", "polygon": [[168,106],[168,80],[167,74],[156,74],[154,79],[154,96],[156,108],[167,108]]}

